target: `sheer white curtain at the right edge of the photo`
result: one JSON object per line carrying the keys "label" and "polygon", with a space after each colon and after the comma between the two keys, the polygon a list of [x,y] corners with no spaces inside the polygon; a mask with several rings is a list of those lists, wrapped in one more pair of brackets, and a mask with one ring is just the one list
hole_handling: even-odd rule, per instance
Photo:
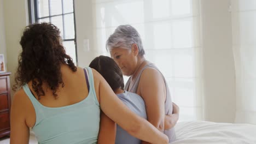
{"label": "sheer white curtain at the right edge of the photo", "polygon": [[256,1],[232,0],[237,123],[256,124]]}

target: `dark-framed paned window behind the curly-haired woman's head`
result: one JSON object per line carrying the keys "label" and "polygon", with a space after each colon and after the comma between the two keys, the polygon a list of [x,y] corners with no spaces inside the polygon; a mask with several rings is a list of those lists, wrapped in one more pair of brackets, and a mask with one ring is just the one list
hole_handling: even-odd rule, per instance
{"label": "dark-framed paned window behind the curly-haired woman's head", "polygon": [[28,0],[30,22],[51,22],[60,29],[63,46],[77,64],[73,0]]}

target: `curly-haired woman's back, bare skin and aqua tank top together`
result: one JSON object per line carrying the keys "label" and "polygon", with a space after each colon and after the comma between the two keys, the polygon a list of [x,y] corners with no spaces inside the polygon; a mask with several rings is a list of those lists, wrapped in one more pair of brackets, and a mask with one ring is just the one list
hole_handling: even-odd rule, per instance
{"label": "curly-haired woman's back, bare skin and aqua tank top together", "polygon": [[[54,99],[51,92],[45,91],[45,96],[38,101],[30,90],[32,88],[27,84],[23,86],[34,108],[32,117],[36,121],[32,130],[39,143],[96,143],[100,127],[100,105],[91,69],[88,68],[88,83],[80,68],[72,72],[63,66],[62,71],[65,86],[59,88],[57,99]],[[33,121],[30,122],[32,125]]]}

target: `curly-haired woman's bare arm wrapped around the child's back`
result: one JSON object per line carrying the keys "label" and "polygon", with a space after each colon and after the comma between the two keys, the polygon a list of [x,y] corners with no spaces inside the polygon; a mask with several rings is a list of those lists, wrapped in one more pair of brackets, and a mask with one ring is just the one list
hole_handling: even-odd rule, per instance
{"label": "curly-haired woman's bare arm wrapped around the child's back", "polygon": [[[120,125],[130,135],[150,143],[168,143],[168,137],[162,134],[146,119],[133,113],[122,101],[115,95],[106,80],[92,70],[95,77],[95,85],[98,82],[98,95],[100,99],[101,110],[114,122]],[[98,81],[97,81],[98,80]]]}

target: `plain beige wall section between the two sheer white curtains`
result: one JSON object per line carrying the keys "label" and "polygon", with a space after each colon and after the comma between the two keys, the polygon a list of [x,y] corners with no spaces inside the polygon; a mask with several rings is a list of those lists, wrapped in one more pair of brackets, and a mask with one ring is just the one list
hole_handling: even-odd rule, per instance
{"label": "plain beige wall section between the two sheer white curtains", "polygon": [[229,0],[201,0],[205,120],[234,122],[235,68]]}

